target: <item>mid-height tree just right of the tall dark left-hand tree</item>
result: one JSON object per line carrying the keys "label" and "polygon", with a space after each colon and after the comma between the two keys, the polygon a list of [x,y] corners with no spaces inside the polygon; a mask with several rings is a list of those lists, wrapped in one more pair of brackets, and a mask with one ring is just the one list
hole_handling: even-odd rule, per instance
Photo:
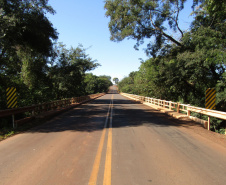
{"label": "mid-height tree just right of the tall dark left-hand tree", "polygon": [[52,61],[48,76],[52,79],[56,99],[86,94],[85,73],[99,64],[86,54],[82,45],[67,49],[63,44],[59,44],[55,50],[58,56]]}

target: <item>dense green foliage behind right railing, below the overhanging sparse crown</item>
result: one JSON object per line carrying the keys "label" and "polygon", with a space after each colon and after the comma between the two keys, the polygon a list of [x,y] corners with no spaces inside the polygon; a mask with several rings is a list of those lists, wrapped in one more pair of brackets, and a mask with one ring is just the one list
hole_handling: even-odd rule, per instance
{"label": "dense green foliage behind right railing, below the overhanging sparse crown", "polygon": [[[119,82],[121,91],[205,107],[206,89],[215,88],[217,110],[226,111],[226,3],[195,3],[201,3],[200,8],[194,11],[191,30],[180,40],[183,47],[162,46],[155,58],[142,62],[139,71]],[[217,119],[211,124],[212,130],[221,133],[226,126]]]}

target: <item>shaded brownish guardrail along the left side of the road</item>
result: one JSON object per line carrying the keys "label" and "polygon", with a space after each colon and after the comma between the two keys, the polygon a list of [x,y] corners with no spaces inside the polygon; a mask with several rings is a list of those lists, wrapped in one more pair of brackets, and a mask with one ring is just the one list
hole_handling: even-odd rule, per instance
{"label": "shaded brownish guardrail along the left side of the road", "polygon": [[52,102],[48,102],[48,103],[42,103],[42,104],[38,104],[38,105],[27,106],[27,107],[0,110],[0,118],[12,116],[13,127],[15,127],[14,115],[16,115],[16,114],[30,112],[31,117],[35,117],[35,116],[40,115],[42,113],[45,113],[45,112],[48,112],[48,111],[51,111],[51,110],[59,110],[59,109],[62,109],[62,108],[69,107],[71,105],[76,105],[76,104],[79,104],[79,103],[82,103],[82,102],[103,96],[104,94],[105,93],[91,94],[91,95],[88,95],[88,96],[68,98],[68,99],[64,99],[64,100],[57,100],[57,101],[52,101]]}

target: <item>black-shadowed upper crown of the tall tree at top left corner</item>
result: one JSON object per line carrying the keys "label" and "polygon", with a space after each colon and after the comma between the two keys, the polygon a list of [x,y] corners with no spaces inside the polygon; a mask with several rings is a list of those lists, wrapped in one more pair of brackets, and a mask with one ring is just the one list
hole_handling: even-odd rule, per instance
{"label": "black-shadowed upper crown of the tall tree at top left corner", "polygon": [[58,36],[45,16],[47,12],[54,13],[47,3],[47,0],[0,1],[1,61],[21,50],[51,56],[52,40]]}

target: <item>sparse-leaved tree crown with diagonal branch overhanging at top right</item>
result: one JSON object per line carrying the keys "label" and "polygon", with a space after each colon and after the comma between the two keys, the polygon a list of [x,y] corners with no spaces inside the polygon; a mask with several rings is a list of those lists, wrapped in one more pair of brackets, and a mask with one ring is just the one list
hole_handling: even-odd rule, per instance
{"label": "sparse-leaved tree crown with diagonal branch overhanging at top right", "polygon": [[[152,39],[152,43],[147,46],[147,52],[154,57],[161,50],[170,47],[170,43],[183,47],[180,39],[184,31],[178,20],[185,2],[186,0],[106,0],[111,40],[132,38],[137,40],[137,47],[145,38]],[[178,38],[172,36],[175,32],[180,34]]]}

